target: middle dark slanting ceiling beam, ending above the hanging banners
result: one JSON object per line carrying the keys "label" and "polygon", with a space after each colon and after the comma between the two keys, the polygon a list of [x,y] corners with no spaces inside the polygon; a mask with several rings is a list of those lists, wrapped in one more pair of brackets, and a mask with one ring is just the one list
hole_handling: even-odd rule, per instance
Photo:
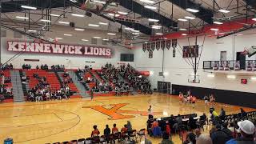
{"label": "middle dark slanting ceiling beam, ending above the hanging banners", "polygon": [[133,11],[134,13],[141,14],[145,18],[154,18],[159,19],[162,26],[170,28],[171,26],[177,27],[177,22],[174,22],[173,19],[166,18],[162,14],[155,12],[154,10],[146,9],[144,6],[133,0],[119,0],[119,5],[125,7],[128,10]]}

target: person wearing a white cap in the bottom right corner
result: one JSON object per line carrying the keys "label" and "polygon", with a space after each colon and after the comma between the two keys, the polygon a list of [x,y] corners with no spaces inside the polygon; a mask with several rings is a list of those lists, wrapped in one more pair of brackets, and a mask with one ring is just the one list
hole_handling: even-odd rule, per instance
{"label": "person wearing a white cap in the bottom right corner", "polygon": [[238,122],[239,131],[241,133],[240,138],[232,138],[230,141],[226,142],[226,144],[237,144],[237,143],[255,143],[254,134],[255,134],[255,126],[253,122],[248,120]]}

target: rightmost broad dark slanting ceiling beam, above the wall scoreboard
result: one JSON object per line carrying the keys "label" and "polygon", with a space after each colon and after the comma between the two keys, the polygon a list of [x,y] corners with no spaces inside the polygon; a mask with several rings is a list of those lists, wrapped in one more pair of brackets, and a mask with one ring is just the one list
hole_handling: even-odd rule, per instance
{"label": "rightmost broad dark slanting ceiling beam, above the wall scoreboard", "polygon": [[[212,24],[214,12],[212,10],[207,10],[202,6],[198,6],[198,4],[191,2],[190,0],[167,0],[168,2],[174,3],[174,5],[186,10],[186,8],[197,8],[199,10],[198,13],[194,14],[197,18],[201,18],[203,21]],[[195,7],[196,6],[196,7]]]}

